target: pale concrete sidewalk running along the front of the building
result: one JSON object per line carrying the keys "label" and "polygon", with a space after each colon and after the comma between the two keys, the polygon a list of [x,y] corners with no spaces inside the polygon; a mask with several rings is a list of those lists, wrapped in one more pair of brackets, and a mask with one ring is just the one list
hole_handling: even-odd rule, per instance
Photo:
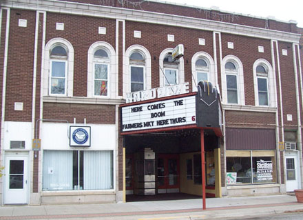
{"label": "pale concrete sidewalk running along the front of the building", "polygon": [[0,219],[222,219],[303,211],[291,195],[57,206],[1,206]]}

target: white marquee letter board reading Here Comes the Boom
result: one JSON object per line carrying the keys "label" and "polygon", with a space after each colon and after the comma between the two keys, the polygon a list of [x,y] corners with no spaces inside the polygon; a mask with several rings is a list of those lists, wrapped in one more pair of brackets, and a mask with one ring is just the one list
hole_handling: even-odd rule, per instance
{"label": "white marquee letter board reading Here Comes the Boom", "polygon": [[196,124],[196,96],[122,107],[122,132]]}

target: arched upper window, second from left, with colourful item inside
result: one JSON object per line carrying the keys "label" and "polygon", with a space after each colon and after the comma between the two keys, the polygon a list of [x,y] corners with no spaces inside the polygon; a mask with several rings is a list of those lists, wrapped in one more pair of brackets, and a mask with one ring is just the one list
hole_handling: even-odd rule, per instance
{"label": "arched upper window, second from left, with colourful item inside", "polygon": [[94,52],[94,95],[107,96],[109,79],[109,55],[103,49]]}

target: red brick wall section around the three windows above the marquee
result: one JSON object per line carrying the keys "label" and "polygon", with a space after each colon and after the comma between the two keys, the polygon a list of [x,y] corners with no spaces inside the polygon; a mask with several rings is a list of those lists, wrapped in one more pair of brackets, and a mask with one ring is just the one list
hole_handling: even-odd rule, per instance
{"label": "red brick wall section around the three windows above the marquee", "polygon": [[[185,82],[189,82],[191,88],[191,59],[196,52],[207,52],[213,57],[212,32],[178,28],[171,26],[159,26],[150,23],[126,22],[125,50],[134,44],[144,46],[151,54],[151,87],[157,88],[159,83],[159,56],[166,48],[175,48],[178,44],[184,45]],[[134,30],[141,31],[141,38],[134,38]],[[167,41],[167,34],[174,34],[175,41]],[[198,44],[198,39],[204,38],[206,46]]]}

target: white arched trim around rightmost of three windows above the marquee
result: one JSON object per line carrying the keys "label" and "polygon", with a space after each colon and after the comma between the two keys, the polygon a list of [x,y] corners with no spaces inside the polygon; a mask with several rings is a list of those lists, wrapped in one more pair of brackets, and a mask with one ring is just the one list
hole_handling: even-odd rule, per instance
{"label": "white arched trim around rightmost of three windows above the marquee", "polygon": [[[213,86],[216,86],[218,82],[216,81],[216,67],[215,67],[215,62],[213,61],[213,58],[211,55],[209,55],[207,52],[196,52],[194,56],[191,58],[191,74],[192,74],[192,90],[193,92],[198,91],[197,86],[198,86],[198,79],[197,79],[197,70],[196,70],[196,61],[198,59],[204,59],[207,64],[209,65],[209,72],[208,72],[208,79]],[[199,70],[198,70],[199,71]],[[195,84],[195,81],[197,85]]]}

